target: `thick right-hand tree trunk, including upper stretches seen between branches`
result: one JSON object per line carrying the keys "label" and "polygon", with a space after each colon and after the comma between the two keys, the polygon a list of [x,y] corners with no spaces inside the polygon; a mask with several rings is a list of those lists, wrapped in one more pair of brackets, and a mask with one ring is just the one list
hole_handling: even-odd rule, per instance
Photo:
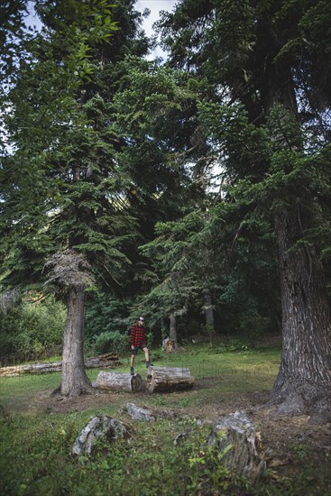
{"label": "thick right-hand tree trunk, including upper stretches seen between branches", "polygon": [[[271,28],[271,39],[277,40]],[[273,42],[273,41],[272,41]],[[274,47],[275,53],[280,44]],[[286,60],[272,61],[267,74],[267,114],[275,149],[302,152],[298,108],[290,66]],[[284,109],[284,112],[281,110]],[[285,157],[285,155],[284,155]],[[284,163],[289,173],[291,163]],[[306,194],[307,194],[307,190]],[[323,423],[331,419],[331,319],[322,264],[311,244],[304,242],[312,227],[313,200],[300,192],[287,192],[284,203],[274,210],[274,227],[279,248],[282,310],[282,355],[280,371],[271,391],[271,403],[284,415],[311,416]],[[299,200],[299,201],[298,201]]]}

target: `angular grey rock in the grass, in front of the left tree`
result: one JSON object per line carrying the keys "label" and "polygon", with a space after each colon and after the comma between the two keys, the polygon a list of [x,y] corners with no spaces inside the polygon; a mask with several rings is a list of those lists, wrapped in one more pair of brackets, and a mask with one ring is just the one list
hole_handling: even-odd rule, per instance
{"label": "angular grey rock in the grass, in front of the left tree", "polygon": [[86,427],[82,429],[76,438],[72,446],[72,455],[91,455],[97,440],[101,437],[104,437],[111,444],[120,437],[127,439],[131,435],[124,424],[117,418],[107,417],[106,415],[91,417]]}

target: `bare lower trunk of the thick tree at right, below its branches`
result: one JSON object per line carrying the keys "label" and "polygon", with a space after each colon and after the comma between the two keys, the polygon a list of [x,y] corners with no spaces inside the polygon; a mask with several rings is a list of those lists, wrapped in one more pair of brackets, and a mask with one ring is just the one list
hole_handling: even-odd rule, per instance
{"label": "bare lower trunk of the thick tree at right, below its branches", "polygon": [[311,246],[295,246],[302,237],[299,207],[278,207],[275,232],[279,245],[282,307],[280,372],[271,404],[285,415],[331,419],[331,319],[323,267]]}

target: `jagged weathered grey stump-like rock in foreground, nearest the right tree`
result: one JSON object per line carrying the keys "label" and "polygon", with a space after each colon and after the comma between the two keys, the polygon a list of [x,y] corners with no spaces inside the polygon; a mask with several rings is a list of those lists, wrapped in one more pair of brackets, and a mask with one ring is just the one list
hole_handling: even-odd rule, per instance
{"label": "jagged weathered grey stump-like rock in foreground, nearest the right tree", "polygon": [[217,420],[208,444],[217,444],[221,463],[235,470],[252,482],[257,482],[266,468],[266,463],[258,454],[259,436],[255,427],[244,412],[236,411]]}

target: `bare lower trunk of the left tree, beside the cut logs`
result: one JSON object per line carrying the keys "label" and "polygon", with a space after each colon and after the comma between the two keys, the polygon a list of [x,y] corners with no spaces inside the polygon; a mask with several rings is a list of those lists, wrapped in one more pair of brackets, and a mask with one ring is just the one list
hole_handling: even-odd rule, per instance
{"label": "bare lower trunk of the left tree, beside the cut logs", "polygon": [[69,397],[93,390],[84,365],[85,302],[86,295],[82,287],[69,289],[60,388],[61,394]]}

